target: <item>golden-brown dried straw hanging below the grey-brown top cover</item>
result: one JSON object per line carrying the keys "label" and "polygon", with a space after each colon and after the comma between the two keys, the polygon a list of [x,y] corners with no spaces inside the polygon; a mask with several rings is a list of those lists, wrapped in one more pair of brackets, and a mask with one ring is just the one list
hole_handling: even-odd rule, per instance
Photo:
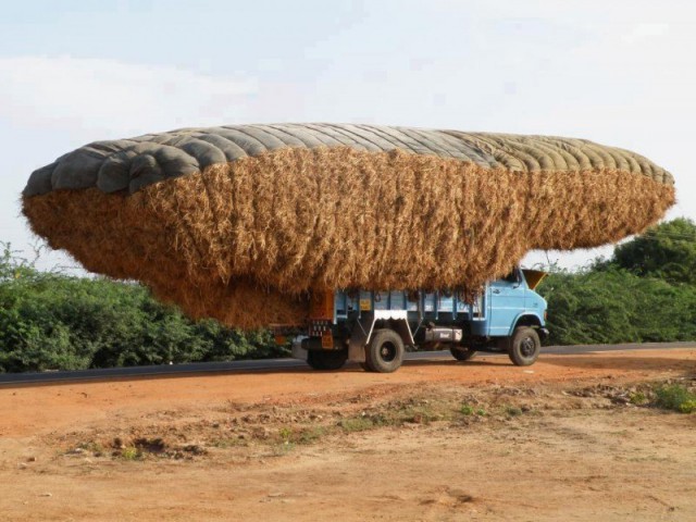
{"label": "golden-brown dried straw hanging below the grey-brown top cover", "polygon": [[531,249],[654,224],[674,189],[622,170],[520,172],[401,151],[284,148],[125,194],[25,197],[34,232],[194,318],[297,323],[308,293],[476,288]]}

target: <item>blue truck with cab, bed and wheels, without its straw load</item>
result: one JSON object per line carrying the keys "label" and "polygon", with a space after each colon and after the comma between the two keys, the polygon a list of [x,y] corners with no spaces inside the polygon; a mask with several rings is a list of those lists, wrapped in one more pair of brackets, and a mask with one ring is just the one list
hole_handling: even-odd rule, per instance
{"label": "blue truck with cab, bed and wheels, without its straw load", "polygon": [[459,361],[477,351],[504,352],[526,366],[548,336],[546,300],[534,291],[544,275],[515,268],[473,298],[448,290],[315,293],[307,335],[296,339],[293,356],[315,370],[356,361],[388,373],[407,349],[449,349]]}

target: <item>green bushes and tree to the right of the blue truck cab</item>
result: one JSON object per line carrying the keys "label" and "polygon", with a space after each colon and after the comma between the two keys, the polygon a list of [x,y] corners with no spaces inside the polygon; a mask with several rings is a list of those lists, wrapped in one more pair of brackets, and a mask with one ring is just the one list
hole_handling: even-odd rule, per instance
{"label": "green bushes and tree to the right of the blue truck cab", "polygon": [[551,270],[552,345],[696,340],[696,225],[663,223],[584,270]]}

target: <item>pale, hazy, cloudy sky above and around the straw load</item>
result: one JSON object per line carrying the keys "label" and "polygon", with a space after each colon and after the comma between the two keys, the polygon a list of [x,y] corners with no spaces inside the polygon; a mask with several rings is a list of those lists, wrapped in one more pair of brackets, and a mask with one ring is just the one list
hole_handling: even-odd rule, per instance
{"label": "pale, hazy, cloudy sky above and around the straw load", "polygon": [[[3,2],[0,241],[32,257],[21,191],[82,145],[266,122],[587,138],[668,169],[668,219],[696,220],[695,50],[687,0]],[[74,264],[44,252],[39,266]]]}

